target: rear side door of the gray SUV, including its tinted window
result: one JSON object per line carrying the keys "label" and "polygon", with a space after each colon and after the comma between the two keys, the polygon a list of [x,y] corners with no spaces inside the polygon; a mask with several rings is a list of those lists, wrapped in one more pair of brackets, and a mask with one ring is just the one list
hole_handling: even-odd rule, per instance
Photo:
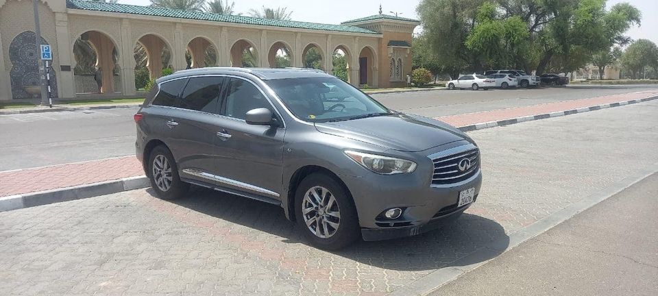
{"label": "rear side door of the gray SUV, including its tinted window", "polygon": [[191,77],[168,114],[167,145],[178,164],[182,177],[213,183],[204,177],[217,168],[217,124],[219,123],[219,90],[224,78]]}

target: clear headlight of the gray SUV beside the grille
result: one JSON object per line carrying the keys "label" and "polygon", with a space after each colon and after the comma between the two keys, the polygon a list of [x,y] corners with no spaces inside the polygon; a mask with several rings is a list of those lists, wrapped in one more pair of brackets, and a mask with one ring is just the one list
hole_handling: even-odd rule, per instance
{"label": "clear headlight of the gray SUV beside the grille", "polygon": [[413,173],[416,169],[416,163],[411,160],[400,158],[390,158],[387,156],[378,156],[375,154],[361,153],[356,151],[345,151],[356,163],[361,164],[366,169],[382,175],[393,175],[396,173]]}

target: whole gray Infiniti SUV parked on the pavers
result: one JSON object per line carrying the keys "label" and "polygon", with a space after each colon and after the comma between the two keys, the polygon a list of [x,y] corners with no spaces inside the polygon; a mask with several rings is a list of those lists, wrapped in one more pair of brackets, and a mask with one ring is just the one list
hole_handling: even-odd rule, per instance
{"label": "whole gray Infiniti SUV parked on the pavers", "polygon": [[482,182],[463,132],[310,69],[179,71],[157,80],[135,121],[159,197],[195,184],[276,204],[323,249],[435,229]]}

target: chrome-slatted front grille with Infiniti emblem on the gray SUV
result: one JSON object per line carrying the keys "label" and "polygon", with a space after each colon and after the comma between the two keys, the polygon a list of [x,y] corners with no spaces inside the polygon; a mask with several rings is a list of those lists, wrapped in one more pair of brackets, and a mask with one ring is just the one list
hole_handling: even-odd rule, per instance
{"label": "chrome-slatted front grille with Infiniti emblem on the gray SUV", "polygon": [[[459,170],[459,162],[468,159],[471,166],[465,171]],[[434,175],[432,184],[453,184],[466,180],[475,175],[480,168],[480,151],[475,148],[460,153],[432,159],[434,162]]]}

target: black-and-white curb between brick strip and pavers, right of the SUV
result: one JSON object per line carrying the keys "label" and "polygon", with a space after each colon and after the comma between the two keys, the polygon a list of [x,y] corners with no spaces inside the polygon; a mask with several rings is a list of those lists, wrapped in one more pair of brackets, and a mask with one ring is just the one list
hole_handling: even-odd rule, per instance
{"label": "black-and-white curb between brick strip and pavers, right of the SUV", "polygon": [[[585,108],[580,108],[580,109],[573,109],[573,110],[566,110],[566,111],[560,111],[560,112],[552,112],[552,113],[544,113],[544,114],[537,114],[537,115],[530,115],[530,116],[522,116],[522,117],[517,117],[513,119],[504,119],[502,121],[489,121],[486,123],[476,123],[474,125],[465,125],[463,127],[458,127],[459,130],[462,132],[472,132],[474,130],[484,130],[485,128],[489,127],[497,127],[497,126],[504,126],[504,125],[512,125],[515,123],[522,123],[526,121],[537,121],[540,119],[548,119],[548,118],[553,118],[553,117],[559,117],[559,116],[565,116],[565,115],[571,115],[571,114],[580,114],[580,113],[585,113],[589,111],[594,111],[594,110],[601,110],[605,108],[613,108],[613,107],[619,107],[619,106],[626,106],[630,105],[633,103],[641,103],[644,101],[651,101],[653,99],[658,99],[658,96],[655,97],[648,97],[644,99],[634,99],[631,101],[620,101],[617,103],[606,103],[602,105],[596,105],[596,106],[590,106],[590,107],[585,107]],[[441,120],[441,118],[435,118],[437,120]]]}

